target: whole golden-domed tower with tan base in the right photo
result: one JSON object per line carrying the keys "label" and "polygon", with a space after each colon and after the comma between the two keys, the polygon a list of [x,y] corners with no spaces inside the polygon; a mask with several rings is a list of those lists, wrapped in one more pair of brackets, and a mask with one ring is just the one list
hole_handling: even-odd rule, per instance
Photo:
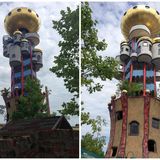
{"label": "whole golden-domed tower with tan base in the right photo", "polygon": [[156,81],[160,70],[160,15],[149,6],[126,11],[121,20],[122,80],[139,83],[141,93],[112,97],[109,103],[110,140],[106,157],[160,157],[160,100]]}

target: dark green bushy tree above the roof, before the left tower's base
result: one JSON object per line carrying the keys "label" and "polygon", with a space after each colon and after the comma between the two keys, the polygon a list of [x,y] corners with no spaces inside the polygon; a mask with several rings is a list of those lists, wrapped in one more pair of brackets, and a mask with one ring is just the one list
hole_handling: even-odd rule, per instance
{"label": "dark green bushy tree above the roof, before the left tower's base", "polygon": [[47,106],[44,104],[42,85],[39,80],[27,78],[25,83],[26,96],[20,96],[17,110],[12,114],[12,120],[32,119],[47,116]]}

